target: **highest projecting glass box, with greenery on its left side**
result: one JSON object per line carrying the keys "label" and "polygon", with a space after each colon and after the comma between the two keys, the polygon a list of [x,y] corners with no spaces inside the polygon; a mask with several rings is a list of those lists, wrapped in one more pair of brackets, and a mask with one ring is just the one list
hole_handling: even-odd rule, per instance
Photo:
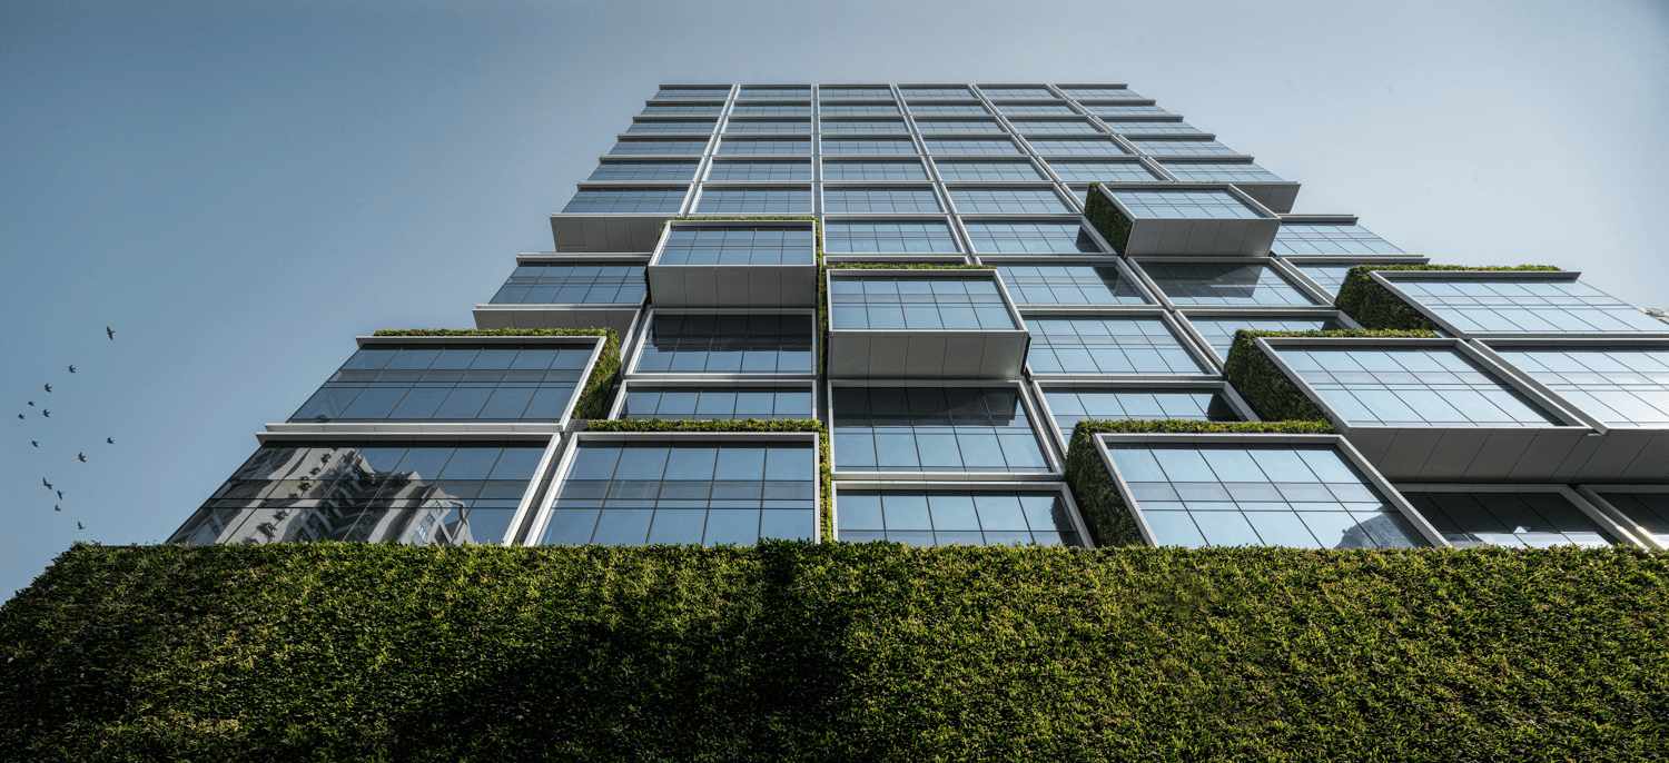
{"label": "highest projecting glass box, with greenery on its left side", "polygon": [[1280,215],[1227,184],[1100,184],[1085,219],[1127,255],[1267,255]]}

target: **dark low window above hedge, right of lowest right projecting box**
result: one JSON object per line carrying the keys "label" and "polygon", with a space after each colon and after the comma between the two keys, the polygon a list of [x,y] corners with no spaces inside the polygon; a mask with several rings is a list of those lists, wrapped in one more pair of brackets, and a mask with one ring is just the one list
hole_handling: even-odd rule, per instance
{"label": "dark low window above hedge, right of lowest right projecting box", "polygon": [[1404,493],[1455,548],[1601,548],[1617,543],[1557,493]]}

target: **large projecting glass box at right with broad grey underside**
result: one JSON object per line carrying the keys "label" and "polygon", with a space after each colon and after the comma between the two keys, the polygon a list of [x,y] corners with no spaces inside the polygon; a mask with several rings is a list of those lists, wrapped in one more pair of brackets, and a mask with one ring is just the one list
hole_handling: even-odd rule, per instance
{"label": "large projecting glass box at right with broad grey underside", "polygon": [[1394,481],[1571,483],[1601,446],[1581,416],[1460,339],[1253,342]]}

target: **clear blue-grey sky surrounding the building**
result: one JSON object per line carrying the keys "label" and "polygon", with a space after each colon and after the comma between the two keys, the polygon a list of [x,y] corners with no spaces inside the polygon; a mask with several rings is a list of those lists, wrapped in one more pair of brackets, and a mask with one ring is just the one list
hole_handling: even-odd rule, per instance
{"label": "clear blue-grey sky surrounding the building", "polygon": [[1127,82],[1298,212],[1669,306],[1662,2],[392,5],[0,2],[0,598],[471,327],[659,82]]}

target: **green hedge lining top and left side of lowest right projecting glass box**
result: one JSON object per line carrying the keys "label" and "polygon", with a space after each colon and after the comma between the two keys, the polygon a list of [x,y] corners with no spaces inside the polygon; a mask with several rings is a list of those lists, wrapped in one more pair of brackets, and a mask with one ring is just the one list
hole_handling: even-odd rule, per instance
{"label": "green hedge lining top and left side of lowest right projecting glass box", "polygon": [[1113,488],[1113,476],[1107,471],[1095,447],[1095,436],[1102,432],[1182,432],[1182,434],[1217,434],[1217,432],[1282,432],[1282,434],[1330,434],[1334,427],[1327,422],[1314,421],[1095,421],[1083,419],[1071,427],[1066,444],[1066,486],[1071,498],[1078,501],[1078,511],[1085,524],[1090,526],[1090,538],[1097,546],[1142,546],[1142,533],[1130,516],[1130,508],[1118,498]]}

